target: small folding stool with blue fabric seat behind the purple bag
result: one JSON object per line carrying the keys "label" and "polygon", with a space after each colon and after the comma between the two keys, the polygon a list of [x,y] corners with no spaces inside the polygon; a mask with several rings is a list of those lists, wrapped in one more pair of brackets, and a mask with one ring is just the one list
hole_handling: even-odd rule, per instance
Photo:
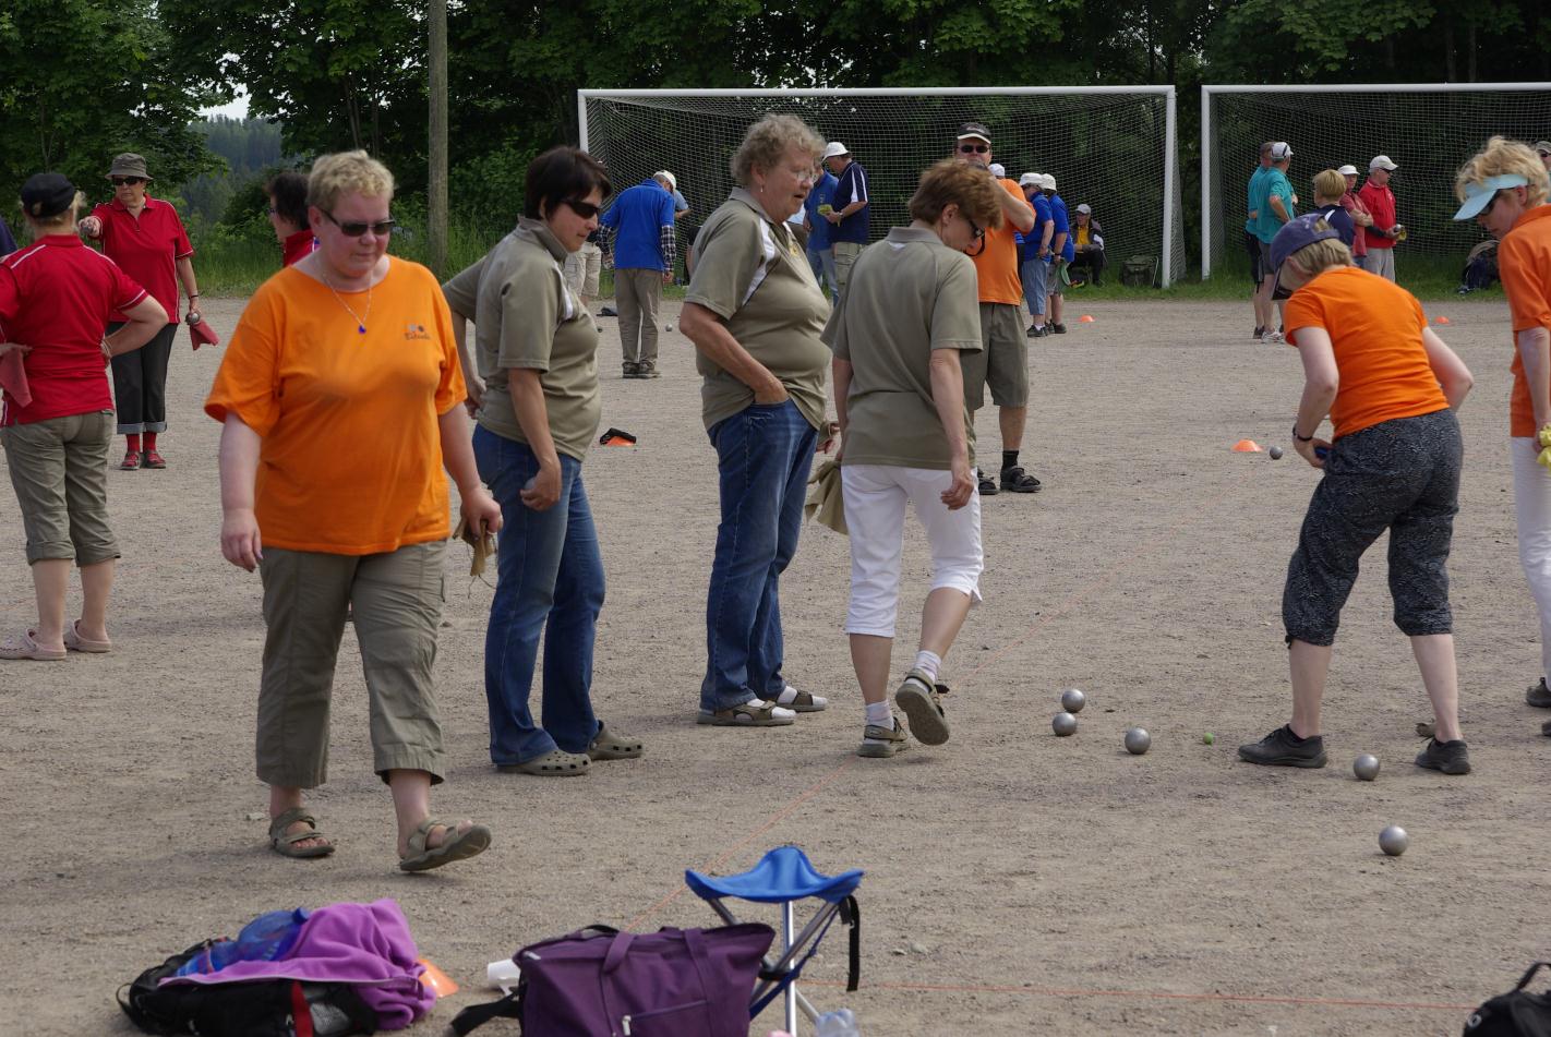
{"label": "small folding stool with blue fabric seat behind the purple bag", "polygon": [[[782,956],[776,961],[765,958],[760,970],[760,983],[754,987],[749,1001],[749,1018],[754,1018],[765,1006],[782,992],[786,994],[786,1031],[797,1035],[797,1008],[803,1015],[817,1020],[819,1012],[797,990],[797,977],[808,958],[819,949],[819,942],[830,930],[836,916],[842,924],[851,927],[850,970],[847,990],[855,990],[861,978],[861,908],[856,905],[856,887],[862,884],[862,871],[842,871],[836,876],[819,874],[808,856],[796,846],[777,846],[760,862],[743,874],[706,876],[698,871],[686,871],[684,882],[710,908],[721,916],[727,925],[737,925],[737,916],[723,904],[723,897],[752,901],[755,904],[780,904],[782,907]],[[802,932],[793,938],[793,902],[817,897],[824,904],[813,919],[803,925]],[[803,953],[807,947],[807,953]],[[800,959],[799,959],[799,955]],[[796,964],[794,964],[796,963]]]}

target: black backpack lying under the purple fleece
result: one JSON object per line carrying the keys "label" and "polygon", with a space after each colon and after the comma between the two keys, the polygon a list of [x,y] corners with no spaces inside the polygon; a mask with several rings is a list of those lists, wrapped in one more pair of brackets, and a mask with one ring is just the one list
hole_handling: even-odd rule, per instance
{"label": "black backpack lying under the purple fleece", "polygon": [[377,1032],[377,1012],[349,983],[264,980],[161,986],[161,980],[186,961],[206,953],[211,942],[194,944],[121,987],[118,1006],[124,1015],[147,1034],[163,1037],[346,1037]]}

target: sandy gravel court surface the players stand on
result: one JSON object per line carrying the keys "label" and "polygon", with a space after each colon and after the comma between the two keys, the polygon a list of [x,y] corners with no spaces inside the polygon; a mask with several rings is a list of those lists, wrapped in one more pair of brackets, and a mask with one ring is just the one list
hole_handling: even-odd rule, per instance
{"label": "sandy gravel court surface the players stand on", "polygon": [[[487,961],[591,922],[710,924],[684,868],[741,871],[793,842],[824,871],[867,871],[862,989],[839,989],[839,928],[808,989],[853,1008],[869,1037],[1458,1032],[1459,1006],[1551,953],[1551,741],[1523,704],[1540,654],[1514,535],[1506,305],[1428,307],[1477,375],[1450,566],[1475,772],[1447,778],[1411,764],[1428,708],[1390,623],[1382,543],[1337,642],[1331,766],[1236,763],[1289,710],[1281,581],[1318,476],[1290,450],[1272,462],[1228,448],[1290,446],[1297,355],[1250,344],[1247,304],[1073,302],[1070,333],[1030,347],[1024,457],[1045,488],[985,501],[985,603],[948,659],[952,741],[895,760],[853,755],[847,543],[813,524],[783,580],[786,674],[830,710],[779,730],[693,724],[717,474],[692,347],[667,333],[664,377],[622,381],[605,318],[603,425],[641,443],[594,450],[585,468],[610,581],[594,699],[645,758],[575,781],[490,767],[492,589],[453,549],[437,659],[451,766],[434,808],[490,825],[495,845],[417,877],[394,866],[351,632],[330,781],[312,798],[338,853],[282,860],[253,820],[267,803],[253,777],[259,580],[217,543],[219,426],[200,405],[220,352],[189,353],[180,336],[169,468],[110,473],[115,653],[0,663],[0,1031],[133,1032],[113,990],[164,955],[265,910],[388,896],[464,986],[413,1031],[439,1034],[489,997]],[[240,305],[211,301],[223,339]],[[979,431],[996,457],[990,409]],[[9,491],[0,529],[0,622],[14,631],[36,612]],[[896,670],[927,587],[924,539],[907,529]],[[1089,705],[1058,739],[1067,685]],[[1152,732],[1145,756],[1121,749],[1132,724]],[[1374,784],[1352,778],[1360,752],[1383,761]],[[1379,853],[1390,823],[1411,834],[1404,857]],[[771,1009],[751,1032],[776,1025]]]}

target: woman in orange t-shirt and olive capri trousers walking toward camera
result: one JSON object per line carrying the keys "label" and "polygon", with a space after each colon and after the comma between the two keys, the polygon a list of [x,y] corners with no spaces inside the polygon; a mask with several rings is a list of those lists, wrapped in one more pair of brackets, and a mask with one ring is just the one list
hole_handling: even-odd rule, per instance
{"label": "woman in orange t-shirt and olive capri trousers walking toward camera", "polygon": [[354,606],[399,866],[425,871],[490,845],[482,825],[430,812],[445,770],[431,687],[448,536],[439,467],[472,530],[498,530],[501,508],[475,470],[440,285],[386,254],[391,200],[392,175],[366,152],[318,160],[307,186],[318,251],[248,301],[205,411],[225,423],[220,550],[264,578],[256,755],[270,846],[333,853],[302,791],[327,777],[329,696]]}

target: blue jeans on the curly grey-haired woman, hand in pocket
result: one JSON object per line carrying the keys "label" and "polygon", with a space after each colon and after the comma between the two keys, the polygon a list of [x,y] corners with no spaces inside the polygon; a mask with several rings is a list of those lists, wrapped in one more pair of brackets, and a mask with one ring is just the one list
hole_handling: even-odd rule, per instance
{"label": "blue jeans on the curly grey-haired woman, hand in pocket", "polygon": [[780,574],[797,553],[819,432],[791,400],[755,403],[710,429],[721,525],[706,600],[703,710],[780,694]]}

